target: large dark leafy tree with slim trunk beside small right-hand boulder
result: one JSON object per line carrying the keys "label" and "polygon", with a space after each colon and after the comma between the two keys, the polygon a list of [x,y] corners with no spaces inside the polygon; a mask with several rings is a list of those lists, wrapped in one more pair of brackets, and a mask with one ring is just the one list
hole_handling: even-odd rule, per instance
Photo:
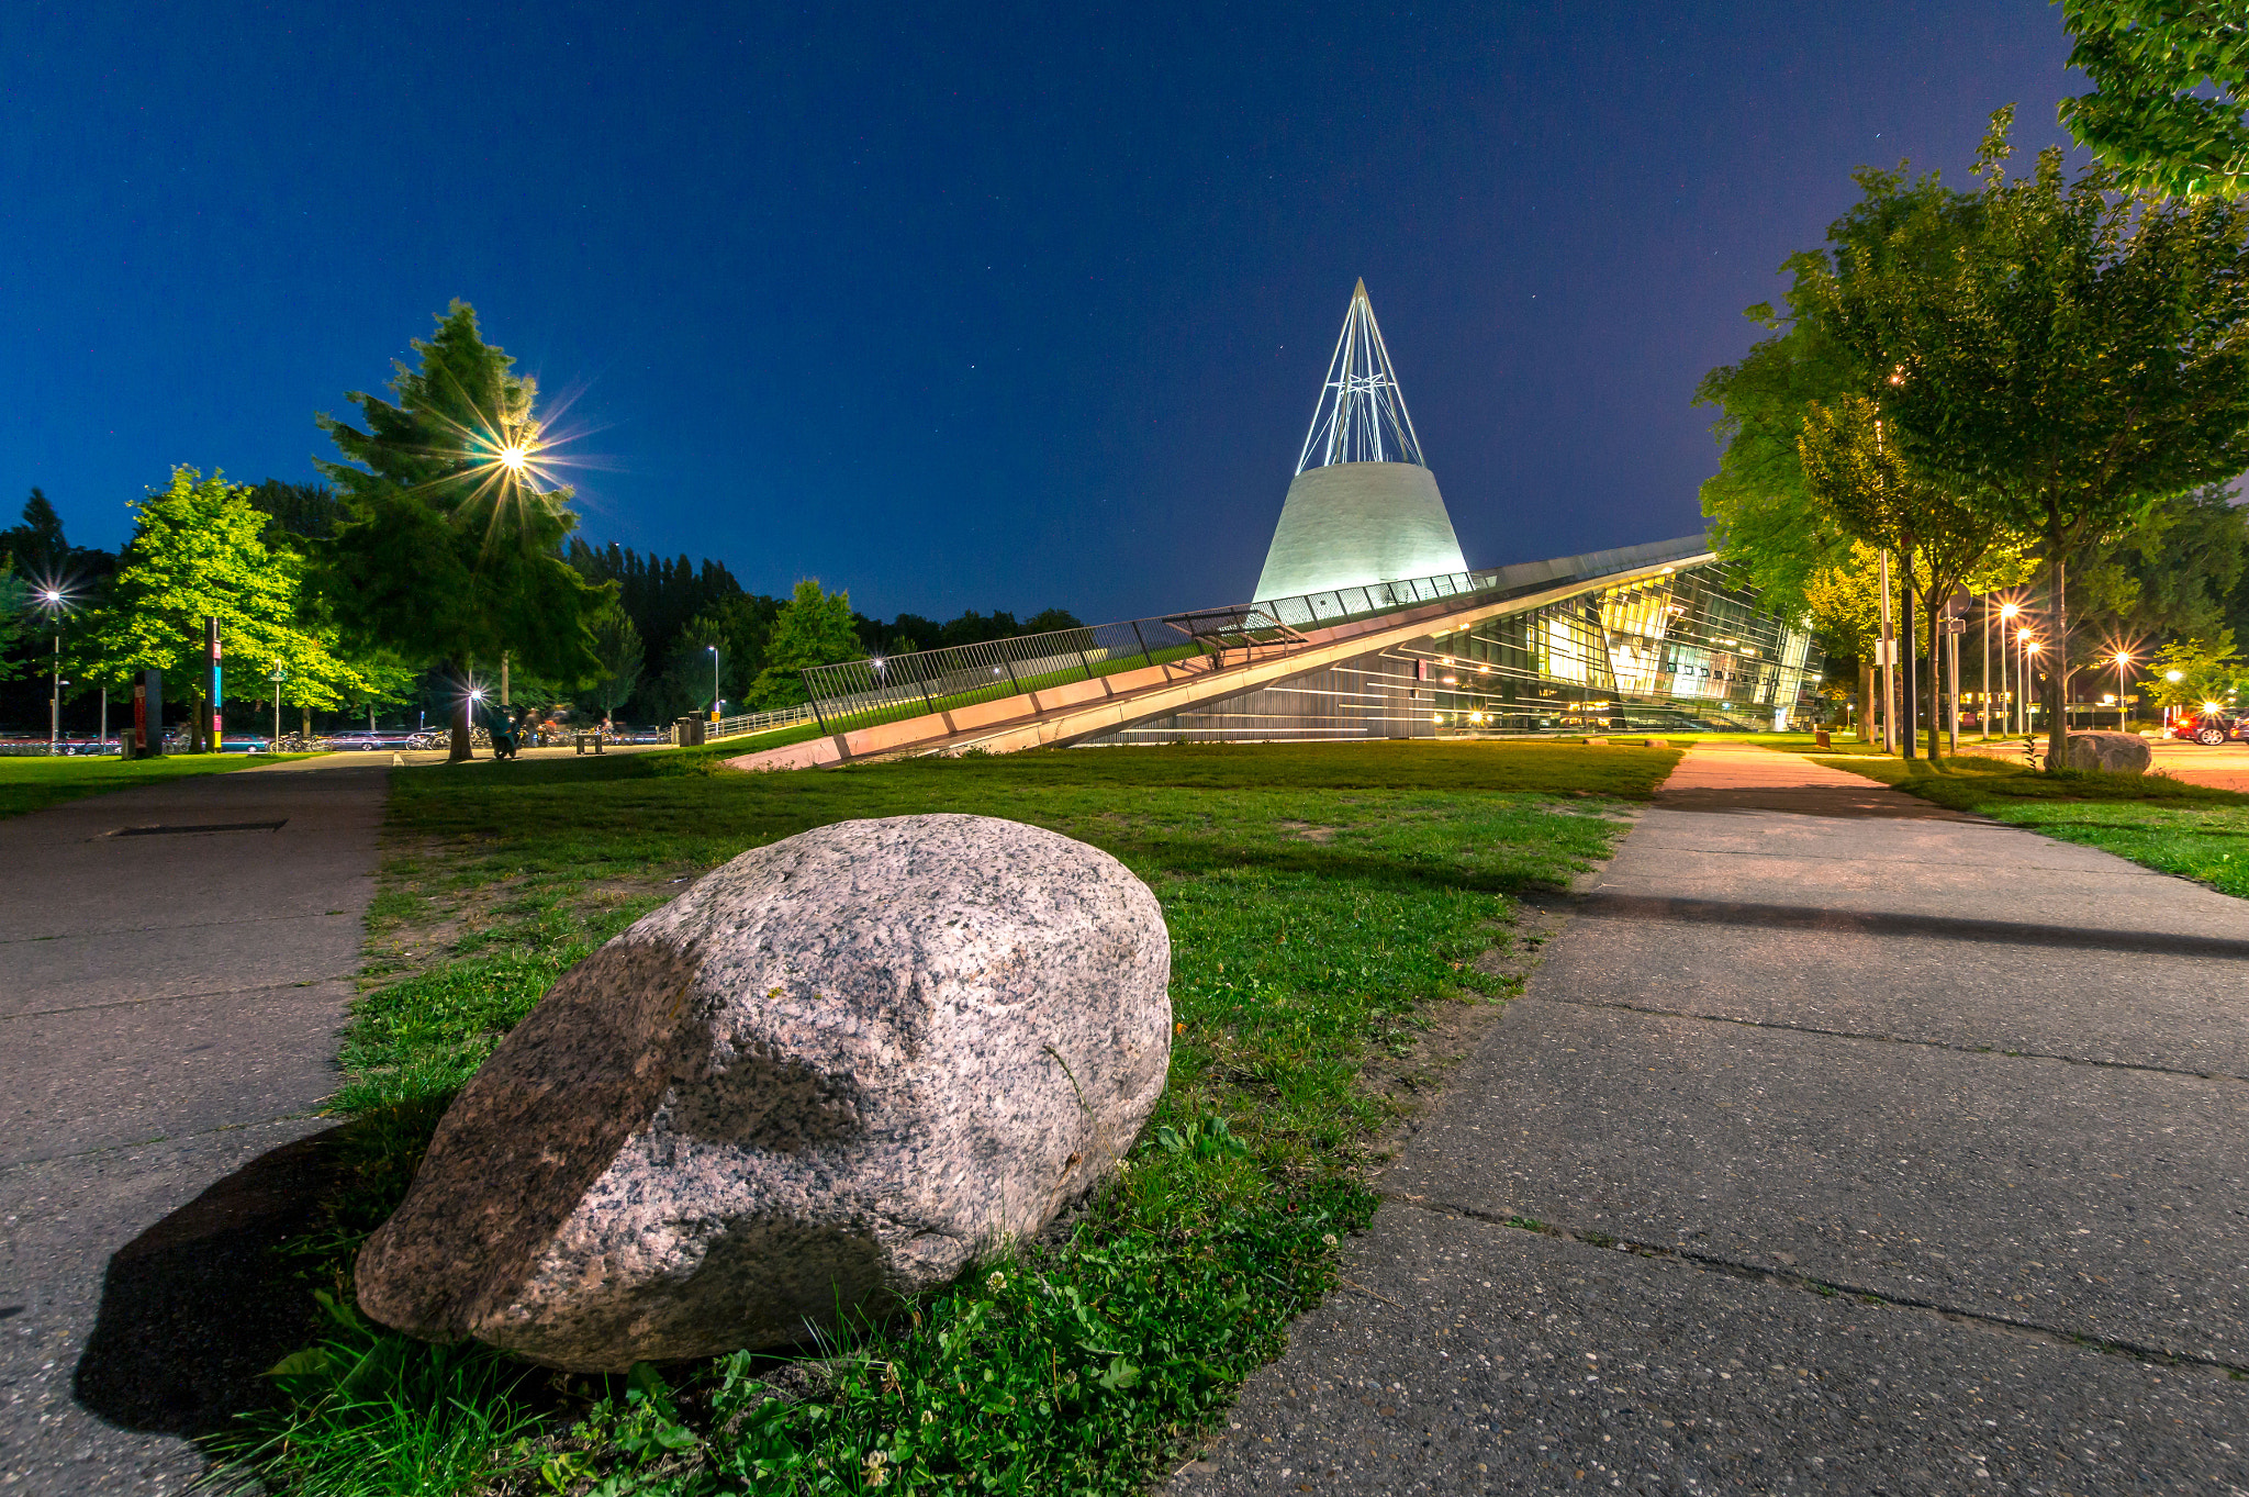
{"label": "large dark leafy tree with slim trunk beside small right-hand boulder", "polygon": [[[1889,371],[1882,420],[1932,483],[2035,537],[2056,659],[2065,569],[2128,533],[2164,495],[2249,468],[2249,209],[2146,205],[2060,151],[2008,178],[1993,117],[1972,202],[1923,198],[1810,276],[1817,317],[1862,366]],[[1862,173],[1869,196],[1896,193]],[[2051,764],[2065,764],[2049,672]]]}

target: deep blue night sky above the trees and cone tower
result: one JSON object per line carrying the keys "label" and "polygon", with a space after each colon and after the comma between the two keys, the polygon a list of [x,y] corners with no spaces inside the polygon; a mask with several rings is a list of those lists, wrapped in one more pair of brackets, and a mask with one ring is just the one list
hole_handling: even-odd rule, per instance
{"label": "deep blue night sky above the trees and cone tower", "polygon": [[1354,276],[1471,564],[1700,526],[1741,308],[2060,139],[2044,0],[0,7],[0,503],[310,479],[448,299],[582,533],[870,614],[1246,598]]}

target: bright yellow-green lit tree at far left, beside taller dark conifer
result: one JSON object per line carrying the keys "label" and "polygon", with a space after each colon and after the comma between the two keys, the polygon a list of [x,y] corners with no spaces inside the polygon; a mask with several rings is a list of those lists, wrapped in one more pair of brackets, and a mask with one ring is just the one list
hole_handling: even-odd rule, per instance
{"label": "bright yellow-green lit tree at far left, beside taller dark conifer", "polygon": [[[142,670],[178,672],[202,654],[202,620],[218,618],[227,679],[256,699],[274,668],[304,706],[333,706],[360,683],[333,636],[304,625],[304,560],[270,548],[265,515],[223,474],[175,468],[171,486],[135,506],[133,539],[108,600],[76,632],[70,670],[121,686]],[[205,722],[198,713],[198,724]]]}

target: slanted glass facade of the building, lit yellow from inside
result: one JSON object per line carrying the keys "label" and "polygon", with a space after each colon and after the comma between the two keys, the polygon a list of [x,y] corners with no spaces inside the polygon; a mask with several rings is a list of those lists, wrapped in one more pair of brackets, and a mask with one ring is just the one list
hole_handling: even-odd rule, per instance
{"label": "slanted glass facade of the building, lit yellow from inside", "polygon": [[1804,629],[1700,562],[1439,629],[1102,742],[1772,731],[1808,719],[1819,670]]}

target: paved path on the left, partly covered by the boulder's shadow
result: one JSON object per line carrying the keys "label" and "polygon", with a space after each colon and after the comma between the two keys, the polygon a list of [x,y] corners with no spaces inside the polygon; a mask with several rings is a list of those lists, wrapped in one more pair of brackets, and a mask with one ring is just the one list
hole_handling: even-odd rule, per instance
{"label": "paved path on the left, partly covered by the boulder's shadow", "polygon": [[[229,1292],[232,1236],[288,1205],[283,1146],[322,1126],[387,771],[286,769],[0,820],[11,1497],[180,1490],[178,1432],[259,1371],[261,1331],[290,1335]],[[241,823],[263,825],[184,829]]]}

